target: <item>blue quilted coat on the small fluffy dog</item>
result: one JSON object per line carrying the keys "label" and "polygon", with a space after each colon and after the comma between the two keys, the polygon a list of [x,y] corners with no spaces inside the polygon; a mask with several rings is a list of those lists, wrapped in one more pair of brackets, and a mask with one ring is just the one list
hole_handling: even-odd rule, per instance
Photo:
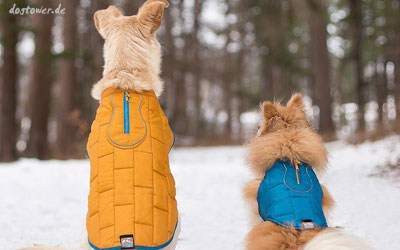
{"label": "blue quilted coat on the small fluffy dog", "polygon": [[298,164],[296,168],[289,162],[277,161],[267,170],[258,189],[259,213],[264,221],[272,221],[284,227],[303,229],[303,221],[311,221],[315,226],[326,228],[322,210],[322,188],[312,168]]}

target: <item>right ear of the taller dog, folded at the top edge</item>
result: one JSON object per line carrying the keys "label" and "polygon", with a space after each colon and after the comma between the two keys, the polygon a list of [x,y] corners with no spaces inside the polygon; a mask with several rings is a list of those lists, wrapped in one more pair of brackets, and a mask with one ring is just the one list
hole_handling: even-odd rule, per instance
{"label": "right ear of the taller dog, folded at the top edge", "polygon": [[164,9],[168,6],[167,0],[147,0],[140,7],[138,20],[146,33],[153,35],[160,28]]}

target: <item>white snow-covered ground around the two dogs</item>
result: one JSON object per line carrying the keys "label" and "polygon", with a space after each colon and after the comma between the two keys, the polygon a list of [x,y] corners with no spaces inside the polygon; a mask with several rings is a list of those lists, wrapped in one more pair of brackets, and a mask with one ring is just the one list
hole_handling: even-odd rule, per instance
{"label": "white snow-covered ground around the two dogs", "polygon": [[[331,226],[376,249],[400,249],[400,185],[371,175],[400,155],[400,137],[358,146],[333,142],[328,150],[330,168],[321,182],[337,201]],[[178,250],[243,249],[248,226],[241,188],[251,177],[245,153],[243,147],[171,152],[182,217]],[[0,250],[78,247],[85,237],[88,178],[86,160],[0,164]]]}

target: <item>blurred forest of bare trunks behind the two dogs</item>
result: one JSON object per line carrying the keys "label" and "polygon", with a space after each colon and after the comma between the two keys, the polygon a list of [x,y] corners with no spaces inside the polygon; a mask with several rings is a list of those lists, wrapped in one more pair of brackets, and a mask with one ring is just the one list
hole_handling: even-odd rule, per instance
{"label": "blurred forest of bare trunks behind the two dogs", "polygon": [[[84,154],[104,64],[93,13],[113,3],[133,15],[143,2],[65,0],[65,15],[23,16],[1,2],[2,161]],[[169,2],[160,102],[178,144],[240,143],[260,102],[296,91],[326,138],[400,128],[400,0]]]}

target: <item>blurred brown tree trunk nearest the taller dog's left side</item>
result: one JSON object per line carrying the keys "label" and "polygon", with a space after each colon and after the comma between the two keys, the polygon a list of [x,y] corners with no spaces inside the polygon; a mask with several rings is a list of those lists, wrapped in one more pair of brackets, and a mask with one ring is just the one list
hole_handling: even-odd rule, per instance
{"label": "blurred brown tree trunk nearest the taller dog's left side", "polygon": [[77,49],[77,17],[78,0],[63,0],[62,5],[68,10],[64,15],[64,57],[60,64],[60,110],[58,116],[58,154],[61,158],[70,158],[76,154],[77,127],[77,79],[75,57]]}

